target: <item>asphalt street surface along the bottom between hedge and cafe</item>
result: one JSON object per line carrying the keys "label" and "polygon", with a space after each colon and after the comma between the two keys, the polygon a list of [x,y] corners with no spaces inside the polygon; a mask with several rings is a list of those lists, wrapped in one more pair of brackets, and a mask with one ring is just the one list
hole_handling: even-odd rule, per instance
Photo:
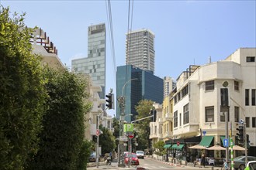
{"label": "asphalt street surface along the bottom between hedge and cafe", "polygon": [[[140,168],[141,167],[141,168]],[[112,165],[102,165],[99,166],[99,168],[97,167],[88,167],[88,170],[96,170],[96,169],[107,169],[107,170],[113,170],[113,169],[122,169],[122,170],[136,170],[136,169],[147,169],[147,170],[164,170],[164,169],[173,169],[173,170],[182,170],[182,169],[200,169],[200,170],[211,170],[212,167],[208,166],[206,168],[198,168],[198,167],[193,167],[193,166],[185,166],[185,165],[171,165],[171,163],[167,163],[167,162],[161,162],[161,161],[157,161],[151,158],[144,158],[144,159],[140,159],[140,165],[137,167],[132,167],[130,166],[130,168],[128,168],[128,166],[126,166],[125,168],[121,168],[117,166],[117,162],[112,162]],[[214,167],[214,170],[217,170],[220,168]]]}

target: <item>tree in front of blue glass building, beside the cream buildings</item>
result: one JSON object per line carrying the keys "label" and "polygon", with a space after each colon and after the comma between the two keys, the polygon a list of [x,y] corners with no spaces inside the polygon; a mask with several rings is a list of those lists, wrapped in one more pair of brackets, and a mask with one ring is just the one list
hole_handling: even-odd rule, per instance
{"label": "tree in front of blue glass building, beside the cream buildings", "polygon": [[[138,105],[135,106],[135,109],[138,113],[137,119],[150,116],[150,110],[152,109],[153,101],[152,100],[140,100]],[[135,124],[138,135],[138,147],[137,150],[142,150],[150,148],[150,118],[140,121],[138,124]]]}

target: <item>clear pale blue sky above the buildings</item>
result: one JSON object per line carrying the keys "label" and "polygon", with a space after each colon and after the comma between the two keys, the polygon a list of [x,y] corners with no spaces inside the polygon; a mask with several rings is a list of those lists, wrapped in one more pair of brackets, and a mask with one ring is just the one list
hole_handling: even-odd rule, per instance
{"label": "clear pale blue sky above the buildings", "polygon": [[[10,11],[26,12],[26,26],[47,32],[61,62],[87,56],[88,26],[106,23],[105,0],[12,1],[0,0]],[[130,9],[132,5],[130,5]],[[150,29],[155,34],[155,72],[175,80],[189,65],[226,59],[241,47],[256,47],[256,1],[134,0],[128,22],[129,1],[111,1],[116,63],[106,29],[106,93],[116,90],[114,66],[126,64],[126,32]],[[131,14],[131,10],[130,10]],[[128,26],[129,23],[129,26]],[[114,115],[115,110],[109,110]]]}

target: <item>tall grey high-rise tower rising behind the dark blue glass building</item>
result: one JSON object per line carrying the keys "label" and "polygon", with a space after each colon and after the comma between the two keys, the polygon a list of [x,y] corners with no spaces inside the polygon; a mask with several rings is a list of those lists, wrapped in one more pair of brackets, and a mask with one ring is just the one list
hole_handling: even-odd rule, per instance
{"label": "tall grey high-rise tower rising behind the dark blue glass building", "polygon": [[154,73],[154,33],[149,29],[126,33],[126,65]]}

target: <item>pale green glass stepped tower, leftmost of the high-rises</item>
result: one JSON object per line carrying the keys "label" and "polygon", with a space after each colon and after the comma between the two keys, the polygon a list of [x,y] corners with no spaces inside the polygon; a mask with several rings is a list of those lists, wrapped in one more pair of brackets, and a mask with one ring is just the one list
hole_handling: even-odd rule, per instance
{"label": "pale green glass stepped tower, leftmost of the high-rises", "polygon": [[94,86],[102,87],[101,99],[106,93],[106,26],[105,23],[88,27],[88,57],[71,61],[74,73],[89,74]]}

